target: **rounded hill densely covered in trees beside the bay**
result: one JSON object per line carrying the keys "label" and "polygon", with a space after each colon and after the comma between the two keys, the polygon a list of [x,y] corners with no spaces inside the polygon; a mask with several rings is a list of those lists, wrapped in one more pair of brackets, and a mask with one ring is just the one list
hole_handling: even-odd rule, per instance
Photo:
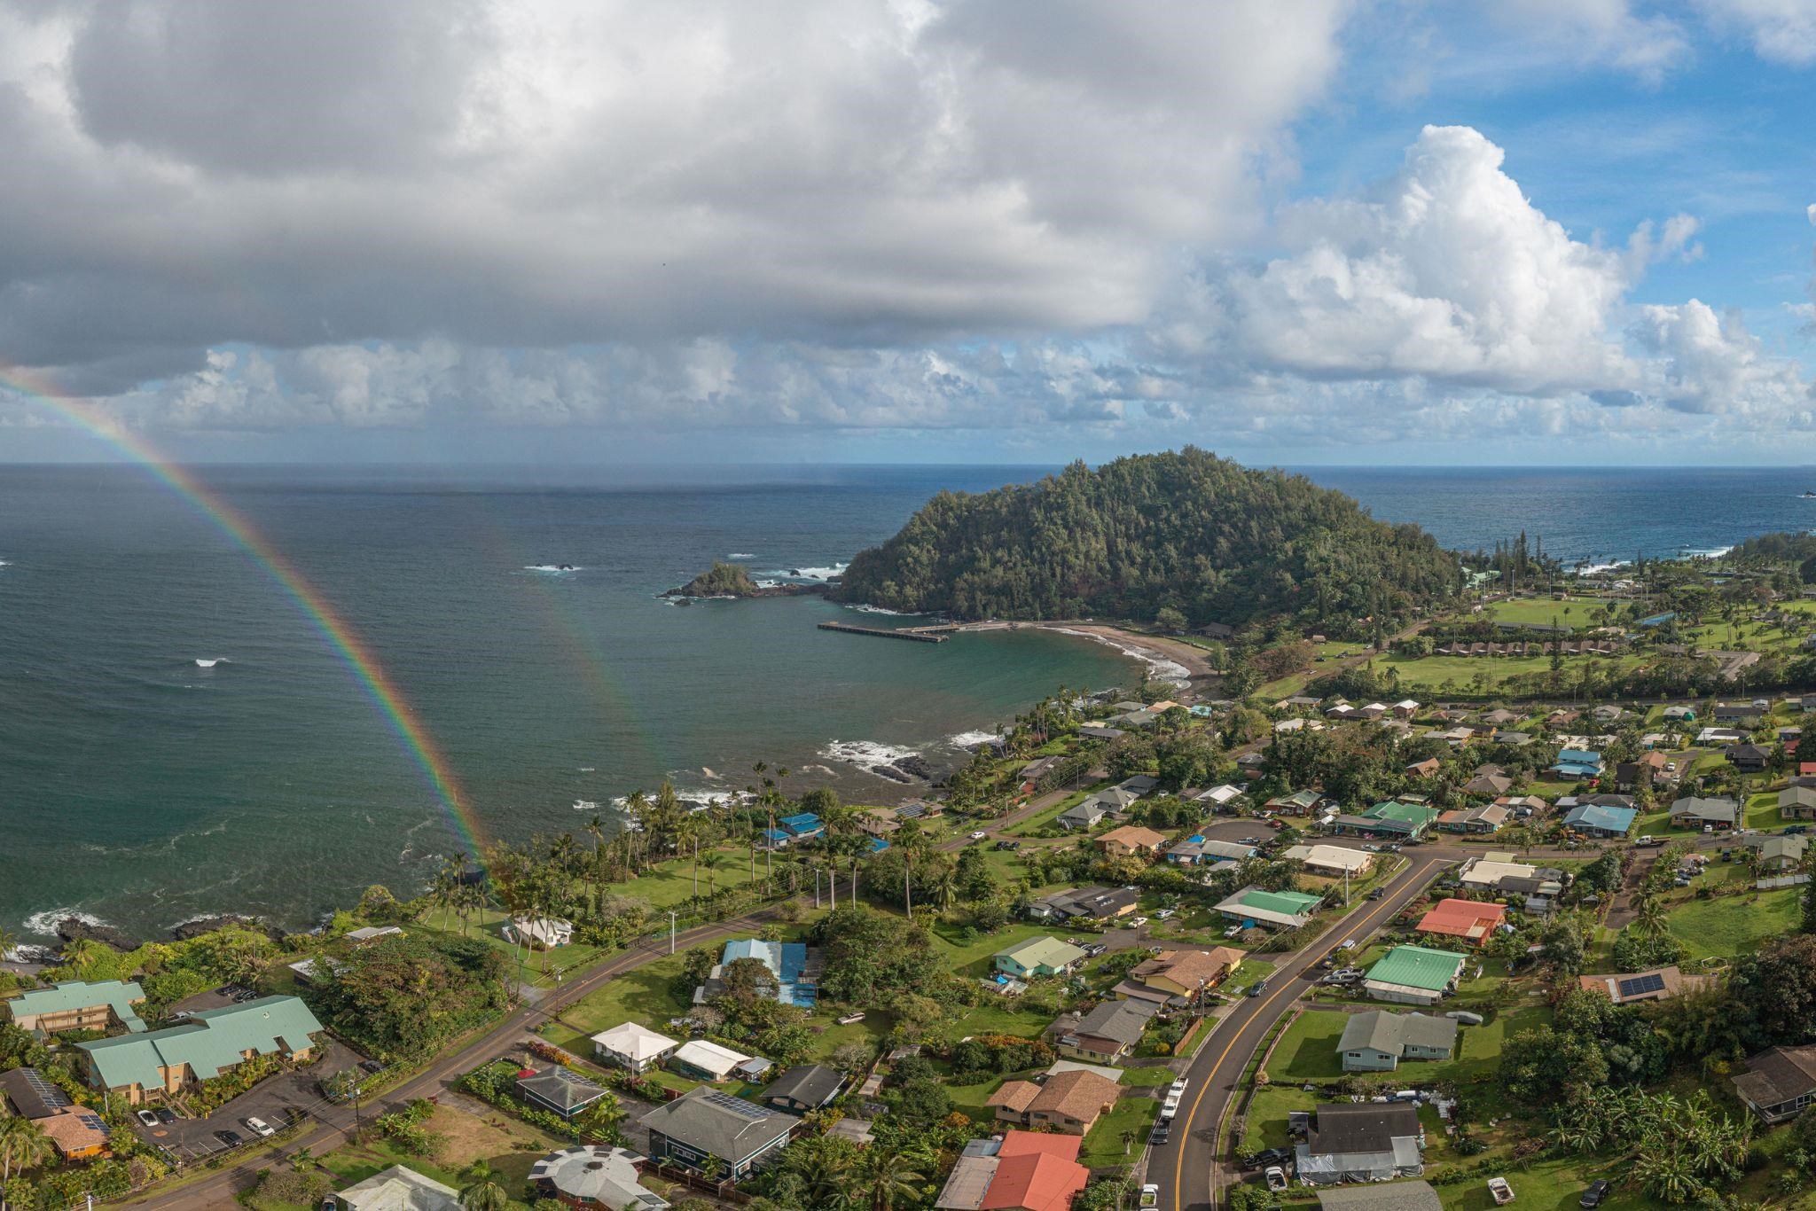
{"label": "rounded hill densely covered in trees beside the bay", "polygon": [[1206,450],[1073,463],[1033,485],[941,492],[839,596],[955,617],[1291,615],[1338,626],[1406,617],[1455,594],[1455,556],[1302,476]]}

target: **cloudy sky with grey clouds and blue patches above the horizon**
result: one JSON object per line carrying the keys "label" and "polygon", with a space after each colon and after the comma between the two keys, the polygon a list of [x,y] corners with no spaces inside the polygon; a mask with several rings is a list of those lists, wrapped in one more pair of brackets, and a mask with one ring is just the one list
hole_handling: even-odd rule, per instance
{"label": "cloudy sky with grey clouds and blue patches above the horizon", "polygon": [[1816,463],[1816,0],[0,0],[0,461]]}

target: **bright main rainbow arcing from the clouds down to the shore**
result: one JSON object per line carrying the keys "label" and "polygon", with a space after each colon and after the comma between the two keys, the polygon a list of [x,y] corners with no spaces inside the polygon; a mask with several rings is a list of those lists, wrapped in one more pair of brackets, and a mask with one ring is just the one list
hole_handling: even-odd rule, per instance
{"label": "bright main rainbow arcing from the clouds down to the shore", "polygon": [[58,390],[53,383],[36,376],[29,370],[0,363],[0,387],[7,387],[29,399],[36,399],[49,410],[64,416],[87,432],[94,434],[107,445],[114,447],[125,454],[131,461],[143,467],[151,476],[173,492],[182,496],[185,501],[194,505],[196,512],[207,517],[222,534],[225,534],[236,546],[245,550],[252,561],[263,568],[272,581],[278,583],[291,601],[303,612],[303,615],[321,632],[321,637],[329,641],[329,646],[336,655],[352,670],[354,679],[365,690],[372,704],[378,706],[380,715],[390,724],[403,741],[403,748],[410,753],[418,766],[421,766],[423,775],[429,781],[430,790],[445,812],[449,824],[452,824],[459,841],[470,850],[474,857],[479,855],[483,830],[479,828],[478,817],[472,813],[472,806],[459,790],[459,783],[454,779],[454,770],[449,766],[449,759],[436,746],[429,730],[423,726],[421,717],[405,701],[398,684],[385,672],[385,666],[378,663],[378,657],[365,645],[360,634],[347,623],[345,617],[329,603],[320,588],[309,583],[309,579],[292,565],[283,554],[265,539],[252,523],[234,510],[227,501],[223,501],[216,492],[209,490],[200,479],[191,472],[173,463],[169,458],[158,452],[142,436],[131,432],[120,421],[102,412],[93,403]]}

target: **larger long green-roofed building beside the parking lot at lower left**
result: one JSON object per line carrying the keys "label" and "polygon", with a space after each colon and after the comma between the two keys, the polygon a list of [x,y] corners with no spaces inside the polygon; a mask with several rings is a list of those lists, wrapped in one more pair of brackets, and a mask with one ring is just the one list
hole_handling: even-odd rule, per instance
{"label": "larger long green-roofed building beside the parking lot at lower left", "polygon": [[174,1095],[238,1068],[254,1055],[303,1062],[321,1022],[296,997],[258,997],[220,1009],[196,1009],[182,1026],[78,1042],[87,1080],[138,1106],[147,1095]]}

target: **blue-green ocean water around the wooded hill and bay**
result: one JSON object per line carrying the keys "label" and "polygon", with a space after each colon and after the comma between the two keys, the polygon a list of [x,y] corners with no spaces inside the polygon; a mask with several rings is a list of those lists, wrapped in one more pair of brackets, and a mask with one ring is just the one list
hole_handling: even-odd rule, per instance
{"label": "blue-green ocean water around the wooded hill and bay", "polygon": [[[0,467],[0,924],[136,935],[223,911],[307,926],[412,893],[470,832],[521,839],[663,779],[730,792],[766,761],[848,802],[964,757],[1066,686],[1133,684],[1086,639],[834,635],[812,597],[657,597],[714,559],[835,572],[941,488],[1028,467],[690,472],[211,467],[198,472],[332,603],[445,757],[458,819],[265,568],[131,467]],[[1816,525],[1801,470],[1308,474],[1444,543],[1522,528],[1569,561],[1716,550]],[[563,570],[561,565],[572,565]]]}

